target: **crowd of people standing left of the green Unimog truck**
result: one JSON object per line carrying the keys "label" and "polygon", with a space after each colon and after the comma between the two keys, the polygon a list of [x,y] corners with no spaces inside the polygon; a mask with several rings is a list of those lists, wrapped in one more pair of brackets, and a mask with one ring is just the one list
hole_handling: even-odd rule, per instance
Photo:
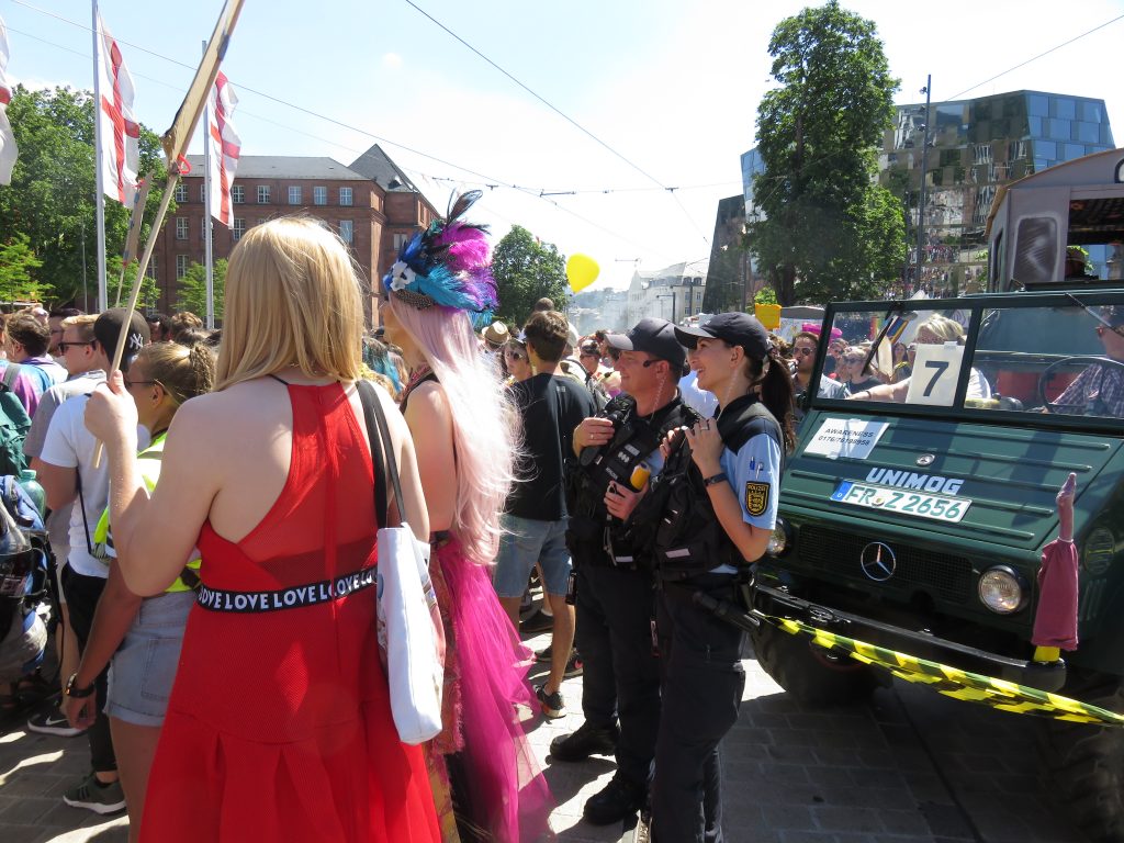
{"label": "crowd of people standing left of the green Unimog truck", "polygon": [[[526,729],[564,717],[583,672],[584,725],[547,761],[615,756],[586,819],[720,839],[743,633],[696,596],[736,602],[773,529],[789,361],[745,314],[582,337],[544,300],[518,330],[492,321],[472,201],[404,247],[373,335],[346,247],[301,217],[239,242],[221,333],[7,318],[61,601],[61,709],[29,727],[90,752],[66,804],[127,809],[130,840],[538,840],[552,797]],[[384,388],[391,511],[432,553],[443,727],[419,746],[391,717],[373,590],[285,599],[373,582],[363,378]],[[535,577],[552,637],[532,687]]]}

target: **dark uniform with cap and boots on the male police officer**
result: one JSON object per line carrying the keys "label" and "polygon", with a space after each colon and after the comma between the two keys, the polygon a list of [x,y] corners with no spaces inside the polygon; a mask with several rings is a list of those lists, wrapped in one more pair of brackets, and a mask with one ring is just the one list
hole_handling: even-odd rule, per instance
{"label": "dark uniform with cap and boots on the male police officer", "polygon": [[[641,325],[644,323],[659,323],[663,339],[678,350],[679,360],[670,362],[681,365],[683,352],[670,324],[645,319]],[[636,350],[650,351],[640,342]],[[677,380],[670,380],[671,389]],[[636,413],[633,398],[618,396],[599,417],[615,422],[613,439],[600,447],[583,448],[568,466],[566,543],[574,568],[574,643],[583,662],[586,724],[556,738],[551,754],[555,760],[578,761],[592,753],[615,753],[613,782],[591,797],[584,810],[589,822],[608,824],[634,813],[646,800],[660,723],[660,667],[651,562],[642,552],[645,538],[632,524],[634,519],[624,524],[609,516],[605,493],[610,483],[628,486],[641,463],[658,475],[662,465],[659,444],[664,435],[695,424],[698,416],[676,395],[645,416]]]}

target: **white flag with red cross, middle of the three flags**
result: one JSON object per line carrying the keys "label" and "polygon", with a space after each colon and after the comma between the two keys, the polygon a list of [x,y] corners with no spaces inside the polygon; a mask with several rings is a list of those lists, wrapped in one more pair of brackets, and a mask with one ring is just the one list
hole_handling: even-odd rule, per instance
{"label": "white flag with red cross, middle of the three flags", "polygon": [[117,42],[98,13],[98,129],[101,138],[102,184],[106,196],[133,207],[140,166],[140,126],[133,116],[133,76]]}

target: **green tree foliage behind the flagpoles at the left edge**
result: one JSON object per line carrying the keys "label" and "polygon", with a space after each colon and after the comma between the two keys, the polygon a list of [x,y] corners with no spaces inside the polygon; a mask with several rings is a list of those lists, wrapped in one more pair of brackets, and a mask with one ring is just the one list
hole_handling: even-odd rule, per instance
{"label": "green tree foliage behind the flagpoles at the left edge", "polygon": [[[0,232],[6,237],[27,236],[29,248],[42,262],[29,270],[30,280],[45,290],[53,288],[47,302],[52,305],[81,297],[84,252],[92,307],[98,289],[93,96],[70,88],[28,91],[18,85],[8,105],[8,118],[19,144],[19,160],[11,185],[0,190]],[[145,217],[152,219],[167,173],[161,162],[160,138],[144,126],[140,176],[155,180],[145,207]],[[106,200],[108,255],[120,255],[125,247],[128,218],[126,208]],[[142,243],[148,229],[149,225],[142,228]],[[117,277],[114,272],[108,275],[112,291]]]}

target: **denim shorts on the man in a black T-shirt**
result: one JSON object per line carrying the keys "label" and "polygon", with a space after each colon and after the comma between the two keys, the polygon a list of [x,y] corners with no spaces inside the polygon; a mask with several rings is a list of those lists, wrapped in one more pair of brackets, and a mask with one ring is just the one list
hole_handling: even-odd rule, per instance
{"label": "denim shorts on the man in a black T-shirt", "polygon": [[535,562],[543,571],[546,593],[561,597],[570,579],[570,551],[565,546],[566,519],[538,522],[514,515],[500,516],[504,535],[496,554],[492,584],[500,597],[523,597]]}

